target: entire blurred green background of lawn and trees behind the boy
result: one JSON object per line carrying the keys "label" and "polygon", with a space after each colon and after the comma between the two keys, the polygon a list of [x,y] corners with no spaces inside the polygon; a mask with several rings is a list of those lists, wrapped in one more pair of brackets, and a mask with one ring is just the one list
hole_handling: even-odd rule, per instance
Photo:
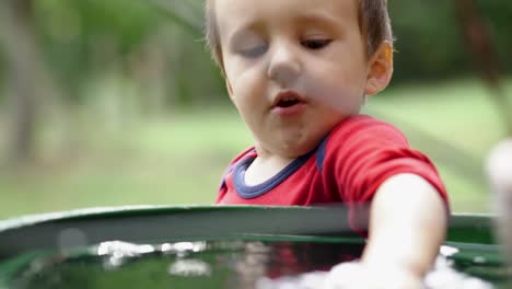
{"label": "entire blurred green background of lawn and trees behind the boy", "polygon": [[[0,3],[0,219],[211,204],[251,136],[202,41],[200,0]],[[365,112],[439,165],[455,211],[489,212],[510,129],[512,2],[394,0],[395,77]]]}

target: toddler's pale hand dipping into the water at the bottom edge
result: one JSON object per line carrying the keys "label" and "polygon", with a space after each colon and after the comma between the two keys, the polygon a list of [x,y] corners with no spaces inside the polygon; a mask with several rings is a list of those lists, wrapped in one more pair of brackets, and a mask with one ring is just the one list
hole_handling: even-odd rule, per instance
{"label": "toddler's pale hand dipping into the water at the bottom edge", "polygon": [[364,263],[339,264],[327,274],[322,289],[420,289],[420,278],[402,268],[371,268]]}

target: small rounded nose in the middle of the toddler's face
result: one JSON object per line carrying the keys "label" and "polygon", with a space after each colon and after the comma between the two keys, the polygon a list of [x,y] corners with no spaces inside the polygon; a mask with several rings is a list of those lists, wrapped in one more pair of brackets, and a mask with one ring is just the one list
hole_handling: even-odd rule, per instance
{"label": "small rounded nose in the middle of the toddler's face", "polygon": [[302,70],[298,51],[289,44],[280,44],[274,48],[268,65],[268,78],[281,86],[290,86]]}

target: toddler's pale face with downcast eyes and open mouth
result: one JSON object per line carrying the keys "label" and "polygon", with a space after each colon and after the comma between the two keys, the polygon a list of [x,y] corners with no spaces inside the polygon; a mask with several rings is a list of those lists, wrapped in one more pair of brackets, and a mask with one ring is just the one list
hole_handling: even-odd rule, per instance
{"label": "toddler's pale face with downcast eyes and open mouth", "polygon": [[304,154],[373,93],[358,1],[216,1],[228,90],[257,149]]}

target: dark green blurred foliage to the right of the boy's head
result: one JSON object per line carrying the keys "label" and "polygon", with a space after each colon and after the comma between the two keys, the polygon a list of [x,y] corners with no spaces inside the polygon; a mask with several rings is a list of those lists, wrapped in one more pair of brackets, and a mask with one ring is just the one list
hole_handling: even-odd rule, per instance
{"label": "dark green blurred foliage to the right of the boy's head", "polygon": [[[504,54],[512,47],[508,37],[512,2],[479,0],[478,9],[492,34],[505,72],[512,72],[512,58]],[[474,63],[463,39],[454,1],[389,1],[397,37],[395,82],[441,80],[467,77]]]}

